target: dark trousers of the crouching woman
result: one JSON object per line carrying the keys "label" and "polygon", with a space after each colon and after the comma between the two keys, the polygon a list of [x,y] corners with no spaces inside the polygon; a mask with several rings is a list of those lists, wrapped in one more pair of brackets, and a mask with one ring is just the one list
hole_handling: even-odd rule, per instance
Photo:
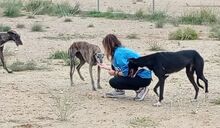
{"label": "dark trousers of the crouching woman", "polygon": [[150,84],[151,78],[141,78],[136,76],[131,77],[122,77],[115,76],[109,80],[111,87],[121,90],[138,90],[140,87],[146,87]]}

